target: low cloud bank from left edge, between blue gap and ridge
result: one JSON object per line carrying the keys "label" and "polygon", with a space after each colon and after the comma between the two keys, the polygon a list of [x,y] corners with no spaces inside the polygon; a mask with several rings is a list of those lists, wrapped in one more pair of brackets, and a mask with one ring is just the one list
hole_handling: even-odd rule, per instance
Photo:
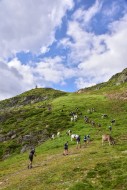
{"label": "low cloud bank from left edge, between blue gap and ridge", "polygon": [[0,99],[10,98],[24,91],[53,84],[66,85],[66,80],[76,75],[76,70],[63,63],[64,57],[45,58],[34,65],[23,65],[17,58],[0,62]]}

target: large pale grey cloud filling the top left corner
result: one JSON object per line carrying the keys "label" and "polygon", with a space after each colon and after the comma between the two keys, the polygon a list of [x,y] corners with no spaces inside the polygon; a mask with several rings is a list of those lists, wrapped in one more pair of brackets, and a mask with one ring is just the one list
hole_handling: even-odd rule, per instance
{"label": "large pale grey cloud filling the top left corner", "polygon": [[72,7],[73,0],[0,1],[0,56],[23,50],[38,53],[52,44],[55,29]]}

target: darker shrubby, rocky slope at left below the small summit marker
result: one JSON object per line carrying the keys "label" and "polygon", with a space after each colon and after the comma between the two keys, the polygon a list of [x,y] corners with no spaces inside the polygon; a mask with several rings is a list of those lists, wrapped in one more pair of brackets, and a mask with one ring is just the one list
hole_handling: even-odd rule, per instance
{"label": "darker shrubby, rocky slope at left below the small summit marker", "polygon": [[[49,125],[46,128],[47,138],[56,131],[56,123],[59,120],[55,121],[54,118],[58,118],[60,111],[58,110],[54,115],[49,108],[52,108],[52,100],[63,95],[66,96],[66,93],[50,88],[37,88],[0,101],[0,133],[6,135],[12,130],[16,131],[16,138],[0,143],[0,158],[7,152],[9,154],[14,151],[20,152],[23,145],[17,142],[21,136],[29,134],[36,136],[46,128],[46,125]],[[40,138],[39,135],[37,138]]]}

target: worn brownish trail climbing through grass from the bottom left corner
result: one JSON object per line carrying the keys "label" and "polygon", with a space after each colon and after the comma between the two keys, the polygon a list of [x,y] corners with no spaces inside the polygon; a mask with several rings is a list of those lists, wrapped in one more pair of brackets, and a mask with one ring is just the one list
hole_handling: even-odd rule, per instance
{"label": "worn brownish trail climbing through grass from the bottom left corner", "polygon": [[[41,171],[43,171],[43,169],[47,166],[49,166],[51,163],[54,162],[60,162],[61,159],[68,159],[70,157],[76,157],[79,156],[79,154],[81,154],[81,152],[84,151],[84,148],[81,149],[70,149],[69,151],[69,155],[64,156],[63,152],[59,153],[59,154],[55,154],[55,155],[48,155],[47,158],[43,158],[44,160],[42,161],[42,157],[41,155],[39,155],[38,157],[35,157],[35,162],[39,163],[39,164],[33,164],[33,167],[31,169],[28,169],[28,163],[24,163],[23,165],[25,165],[25,167],[23,167],[22,169],[13,172],[13,173],[9,173],[7,175],[5,175],[4,177],[1,178],[0,180],[0,189],[4,189],[7,188],[9,185],[11,185],[11,182],[14,181],[14,178],[19,178],[20,181],[22,181],[24,178],[29,177],[30,175],[35,175],[35,174],[39,174]],[[37,158],[37,159],[36,159]]]}

